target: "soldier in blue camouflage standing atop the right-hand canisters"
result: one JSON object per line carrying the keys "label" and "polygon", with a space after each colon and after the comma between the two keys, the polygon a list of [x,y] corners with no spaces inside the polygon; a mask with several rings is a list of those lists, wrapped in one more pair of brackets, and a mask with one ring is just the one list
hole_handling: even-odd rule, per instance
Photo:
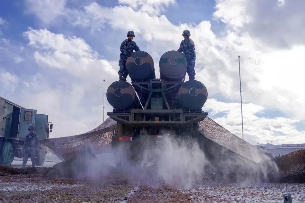
{"label": "soldier in blue camouflage standing atop the right-hand canisters", "polygon": [[182,33],[184,40],[181,41],[180,47],[177,51],[183,52],[186,60],[188,61],[187,73],[190,80],[195,80],[195,61],[196,61],[196,52],[195,44],[191,38],[190,31],[184,30]]}

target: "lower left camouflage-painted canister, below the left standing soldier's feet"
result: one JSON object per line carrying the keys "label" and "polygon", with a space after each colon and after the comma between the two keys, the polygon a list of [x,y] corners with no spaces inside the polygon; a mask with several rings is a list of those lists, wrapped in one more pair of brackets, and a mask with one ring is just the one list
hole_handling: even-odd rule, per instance
{"label": "lower left camouflage-painted canister, below the left standing soldier's feet", "polygon": [[142,109],[135,90],[126,81],[113,82],[107,89],[106,97],[116,110]]}

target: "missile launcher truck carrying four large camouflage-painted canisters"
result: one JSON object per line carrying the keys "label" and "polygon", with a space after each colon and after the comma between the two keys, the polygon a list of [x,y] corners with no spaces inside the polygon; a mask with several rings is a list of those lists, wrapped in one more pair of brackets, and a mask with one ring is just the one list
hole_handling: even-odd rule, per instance
{"label": "missile launcher truck carrying four large camouflage-painted canisters", "polygon": [[107,115],[117,121],[112,146],[124,146],[124,154],[131,160],[141,159],[142,150],[154,148],[163,135],[194,138],[191,129],[199,132],[198,123],[208,115],[202,111],[208,96],[206,87],[196,80],[184,82],[184,54],[166,52],[159,67],[160,79],[156,79],[152,57],[136,51],[126,60],[131,84],[116,81],[107,89],[107,100],[113,106]]}

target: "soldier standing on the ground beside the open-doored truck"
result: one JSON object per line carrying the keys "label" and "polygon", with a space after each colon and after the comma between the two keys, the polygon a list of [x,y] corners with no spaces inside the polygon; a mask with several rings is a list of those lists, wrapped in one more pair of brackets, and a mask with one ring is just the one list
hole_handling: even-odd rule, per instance
{"label": "soldier standing on the ground beside the open-doored truck", "polygon": [[35,167],[35,156],[40,149],[40,143],[36,134],[34,134],[34,127],[29,126],[28,130],[30,133],[25,137],[25,142],[23,145],[24,156],[22,167],[24,168],[27,164],[27,159],[30,157],[32,162],[32,167]]}

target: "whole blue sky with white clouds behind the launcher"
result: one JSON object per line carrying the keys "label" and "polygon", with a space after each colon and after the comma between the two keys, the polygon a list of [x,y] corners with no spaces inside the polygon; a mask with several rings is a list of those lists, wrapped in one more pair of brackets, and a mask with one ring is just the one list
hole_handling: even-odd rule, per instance
{"label": "whole blue sky with white clouds behind the launcher", "polygon": [[103,79],[105,89],[118,79],[127,31],[158,77],[160,56],[187,29],[211,118],[242,136],[240,55],[245,140],[305,143],[304,8],[303,0],[1,1],[0,96],[48,114],[51,137],[87,132],[103,121]]}

